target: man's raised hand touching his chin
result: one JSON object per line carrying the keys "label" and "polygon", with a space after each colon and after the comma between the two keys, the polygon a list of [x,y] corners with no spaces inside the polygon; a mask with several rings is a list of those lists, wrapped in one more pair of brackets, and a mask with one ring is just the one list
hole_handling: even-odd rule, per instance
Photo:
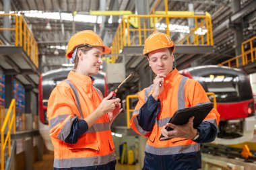
{"label": "man's raised hand touching his chin", "polygon": [[166,77],[166,75],[158,74],[154,79],[154,93],[152,94],[152,97],[154,97],[156,100],[158,100],[158,95],[164,91],[164,77]]}

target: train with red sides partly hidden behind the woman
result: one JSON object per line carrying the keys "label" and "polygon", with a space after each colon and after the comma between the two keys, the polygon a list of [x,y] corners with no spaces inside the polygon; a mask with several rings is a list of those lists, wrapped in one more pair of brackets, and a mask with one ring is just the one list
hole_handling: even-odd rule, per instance
{"label": "train with red sides partly hidden behind the woman", "polygon": [[[38,84],[38,108],[39,108],[39,123],[38,128],[40,135],[44,139],[44,143],[46,145],[46,148],[49,151],[53,151],[53,144],[51,142],[50,137],[50,128],[49,128],[49,122],[47,115],[47,105],[48,105],[48,99],[51,95],[51,91],[55,88],[55,86],[63,81],[64,79],[67,79],[67,75],[69,74],[69,71],[71,71],[73,68],[65,68],[65,69],[56,69],[52,71],[48,71],[46,73],[43,73],[40,76],[39,84]],[[100,89],[102,91],[102,95],[104,97],[108,95],[108,85],[106,83],[106,73],[99,71],[97,75],[92,76],[94,81],[94,86]]]}

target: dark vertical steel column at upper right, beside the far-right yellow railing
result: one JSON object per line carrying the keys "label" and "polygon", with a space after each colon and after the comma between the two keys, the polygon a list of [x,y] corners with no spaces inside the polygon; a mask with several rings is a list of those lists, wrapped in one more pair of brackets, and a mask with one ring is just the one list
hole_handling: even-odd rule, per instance
{"label": "dark vertical steel column at upper right, beside the far-right yellow railing", "polygon": [[[231,2],[231,9],[232,13],[236,13],[241,9],[241,2],[240,0],[233,0]],[[243,23],[242,19],[237,19],[234,23],[234,45],[235,45],[235,52],[236,56],[241,54],[241,44],[243,42]]]}

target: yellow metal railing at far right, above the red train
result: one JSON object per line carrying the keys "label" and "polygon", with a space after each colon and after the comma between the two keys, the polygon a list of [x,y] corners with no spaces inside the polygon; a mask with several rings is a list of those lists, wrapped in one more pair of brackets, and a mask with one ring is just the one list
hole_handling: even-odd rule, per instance
{"label": "yellow metal railing at far right, above the red train", "polygon": [[[241,44],[242,54],[234,56],[229,60],[221,62],[219,65],[228,66],[228,67],[243,67],[248,65],[250,62],[256,61],[256,46],[253,44],[253,41],[256,40],[256,36],[250,38],[249,40],[244,41]],[[245,47],[249,46],[249,49],[245,51]]]}

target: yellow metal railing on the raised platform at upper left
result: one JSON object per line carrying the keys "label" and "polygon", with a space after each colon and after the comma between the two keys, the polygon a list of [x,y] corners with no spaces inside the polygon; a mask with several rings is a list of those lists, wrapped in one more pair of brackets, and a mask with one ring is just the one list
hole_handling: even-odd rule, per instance
{"label": "yellow metal railing on the raised platform at upper left", "polygon": [[3,19],[3,17],[10,17],[11,27],[1,27],[0,31],[9,30],[14,32],[12,34],[14,37],[11,37],[11,43],[14,43],[15,46],[21,46],[32,62],[34,62],[34,65],[38,67],[38,44],[24,17],[15,13],[1,13],[0,19]]}

